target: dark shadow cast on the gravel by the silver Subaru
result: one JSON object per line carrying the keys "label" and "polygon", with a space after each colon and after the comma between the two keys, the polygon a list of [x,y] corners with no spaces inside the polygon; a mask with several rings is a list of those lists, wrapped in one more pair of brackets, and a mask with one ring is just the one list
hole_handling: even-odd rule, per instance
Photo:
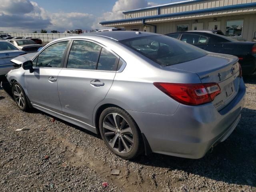
{"label": "dark shadow cast on the gravel by the silver Subaru", "polygon": [[[31,112],[49,114],[33,109]],[[96,138],[100,135],[80,128],[64,120],[56,120]],[[167,168],[168,171],[182,170],[228,184],[256,186],[256,110],[244,108],[242,118],[234,132],[212,152],[200,159],[187,159],[162,154],[141,155],[132,162]],[[184,178],[181,178],[183,180]]]}

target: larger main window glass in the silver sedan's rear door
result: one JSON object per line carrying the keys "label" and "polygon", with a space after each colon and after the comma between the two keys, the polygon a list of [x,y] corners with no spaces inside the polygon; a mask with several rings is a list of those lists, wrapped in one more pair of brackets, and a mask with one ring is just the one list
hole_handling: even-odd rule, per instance
{"label": "larger main window glass in the silver sedan's rear door", "polygon": [[92,42],[74,41],[68,56],[67,68],[96,70],[100,48],[101,46]]}

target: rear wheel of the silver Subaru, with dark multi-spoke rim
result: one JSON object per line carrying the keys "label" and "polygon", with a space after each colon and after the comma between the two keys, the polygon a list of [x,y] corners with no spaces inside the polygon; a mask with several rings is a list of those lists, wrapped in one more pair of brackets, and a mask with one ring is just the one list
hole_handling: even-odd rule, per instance
{"label": "rear wheel of the silver Subaru, with dark multi-spoke rim", "polygon": [[142,137],[139,128],[125,110],[117,107],[106,108],[100,114],[99,128],[106,146],[117,156],[133,159],[142,152]]}

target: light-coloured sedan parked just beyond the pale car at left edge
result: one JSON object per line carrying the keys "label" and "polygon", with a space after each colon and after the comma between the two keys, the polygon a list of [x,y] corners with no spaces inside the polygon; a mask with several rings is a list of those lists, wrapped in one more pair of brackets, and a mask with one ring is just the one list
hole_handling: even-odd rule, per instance
{"label": "light-coloured sedan parked just beyond the pale car at left edge", "polygon": [[8,41],[16,46],[19,50],[27,53],[37,52],[38,48],[42,47],[42,45],[36,44],[36,42],[31,39],[11,39]]}

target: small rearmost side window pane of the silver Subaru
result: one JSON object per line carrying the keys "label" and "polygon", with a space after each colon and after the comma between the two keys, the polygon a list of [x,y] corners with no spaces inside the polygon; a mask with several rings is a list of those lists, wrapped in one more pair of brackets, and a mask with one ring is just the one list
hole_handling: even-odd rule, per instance
{"label": "small rearmost side window pane of the silver Subaru", "polygon": [[116,71],[117,58],[111,52],[102,48],[98,61],[97,70]]}

